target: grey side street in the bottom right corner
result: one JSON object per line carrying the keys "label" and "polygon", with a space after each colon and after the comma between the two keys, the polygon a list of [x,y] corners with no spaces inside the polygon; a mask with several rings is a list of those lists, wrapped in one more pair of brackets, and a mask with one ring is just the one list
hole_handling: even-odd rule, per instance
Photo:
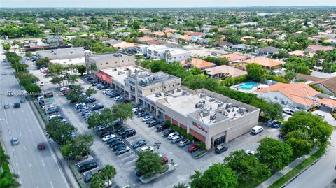
{"label": "grey side street in the bottom right corner", "polygon": [[290,182],[286,188],[323,188],[330,185],[332,180],[336,178],[336,131],[333,131],[330,143],[331,145],[328,146],[325,155],[316,164],[295,178],[293,182]]}

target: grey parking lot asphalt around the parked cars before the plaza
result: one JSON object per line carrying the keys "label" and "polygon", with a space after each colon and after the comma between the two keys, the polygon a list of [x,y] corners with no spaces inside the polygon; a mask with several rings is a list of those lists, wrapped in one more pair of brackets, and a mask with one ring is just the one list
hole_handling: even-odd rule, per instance
{"label": "grey parking lot asphalt around the parked cars before the plaza", "polygon": [[[50,84],[50,78],[45,78],[40,71],[34,70],[31,73],[34,73],[34,75],[36,75],[41,81],[45,82],[45,86],[42,87],[43,89],[57,89],[56,85]],[[88,82],[81,79],[78,80],[77,84],[82,85],[85,89],[90,87]],[[105,108],[111,107],[115,104],[112,99],[102,94],[102,90],[98,90],[98,93],[94,94],[94,97],[99,103],[103,103]],[[94,133],[93,130],[87,129],[87,123],[83,117],[76,113],[73,106],[71,106],[64,96],[55,96],[55,101],[66,120],[77,127],[78,133]],[[158,153],[167,157],[169,162],[174,160],[174,163],[177,164],[177,168],[175,171],[169,172],[166,175],[163,175],[162,177],[144,185],[134,174],[135,161],[137,161],[136,152],[132,152],[134,151],[132,150],[130,152],[126,152],[125,154],[116,155],[109,145],[103,143],[102,139],[94,133],[94,143],[91,147],[94,159],[99,161],[99,164],[102,166],[112,164],[116,167],[117,175],[114,178],[113,183],[118,184],[120,187],[125,185],[130,185],[132,187],[173,187],[173,185],[177,185],[178,182],[188,184],[188,182],[190,182],[189,177],[190,175],[193,175],[194,171],[205,171],[212,164],[223,162],[223,159],[232,151],[243,149],[256,150],[259,140],[265,137],[276,138],[276,135],[279,133],[279,129],[270,129],[267,126],[264,126],[265,130],[256,136],[246,133],[243,136],[230,141],[230,143],[228,143],[228,151],[223,152],[222,154],[215,154],[214,151],[210,151],[208,154],[204,155],[204,157],[194,159],[190,153],[188,153],[188,147],[193,143],[184,147],[172,144],[169,140],[167,140],[167,138],[162,136],[162,132],[155,132],[155,126],[148,128],[144,122],[141,122],[141,118],[133,117],[133,119],[124,122],[124,125],[130,126],[137,131],[135,136],[127,138],[127,140],[130,141],[130,144],[141,139],[147,141],[147,146],[153,146],[153,143],[160,142],[161,146]]]}

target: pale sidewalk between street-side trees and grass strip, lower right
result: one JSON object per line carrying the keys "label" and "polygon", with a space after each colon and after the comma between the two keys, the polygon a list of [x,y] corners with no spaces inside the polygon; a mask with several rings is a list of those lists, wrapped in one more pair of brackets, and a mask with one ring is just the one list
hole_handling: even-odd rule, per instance
{"label": "pale sidewalk between street-side trees and grass strip, lower right", "polygon": [[308,157],[311,156],[311,154],[314,154],[318,150],[318,147],[314,147],[313,150],[307,155],[304,155],[303,157],[300,157],[293,161],[291,164],[283,168],[281,171],[276,172],[274,175],[272,175],[270,178],[262,182],[262,184],[258,185],[256,188],[266,188],[274,184],[277,180],[279,180],[283,175],[286,175],[286,173],[290,172],[295,168],[297,165],[301,164],[304,160],[306,160]]}

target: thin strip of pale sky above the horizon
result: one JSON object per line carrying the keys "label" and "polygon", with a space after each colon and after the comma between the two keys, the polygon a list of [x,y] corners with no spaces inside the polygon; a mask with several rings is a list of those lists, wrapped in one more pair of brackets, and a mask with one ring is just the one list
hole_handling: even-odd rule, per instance
{"label": "thin strip of pale sky above the horizon", "polygon": [[336,6],[336,0],[0,0],[1,7],[235,7]]}

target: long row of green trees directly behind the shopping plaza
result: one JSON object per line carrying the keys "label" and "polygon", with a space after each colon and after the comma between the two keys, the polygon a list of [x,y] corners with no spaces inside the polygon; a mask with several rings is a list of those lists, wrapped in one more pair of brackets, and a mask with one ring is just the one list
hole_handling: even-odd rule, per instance
{"label": "long row of green trees directly behind the shopping plaza", "polygon": [[[141,63],[141,66],[151,69],[152,72],[163,71],[165,73],[175,75],[176,77],[181,78],[183,85],[186,85],[190,89],[205,88],[218,94],[228,96],[237,101],[248,103],[252,106],[260,108],[261,112],[264,113],[264,115],[267,115],[267,117],[269,117],[270,119],[275,120],[278,117],[280,117],[280,119],[282,118],[282,110],[279,104],[267,103],[267,101],[258,98],[255,94],[239,92],[230,89],[229,87],[225,87],[221,85],[217,79],[209,78],[207,75],[193,75],[192,73],[190,73],[190,71],[186,71],[186,69],[183,68],[178,62],[175,62],[173,64],[167,64],[165,61],[153,62],[151,60],[146,60]],[[250,75],[248,76],[251,76],[251,78],[258,78],[259,74],[263,75],[265,73],[264,69],[261,69],[261,71],[259,70],[259,66],[256,66],[257,70],[251,71],[252,66],[254,67],[256,65],[252,64],[250,66]],[[274,108],[275,106],[276,108]],[[269,109],[274,110],[269,112]]]}

